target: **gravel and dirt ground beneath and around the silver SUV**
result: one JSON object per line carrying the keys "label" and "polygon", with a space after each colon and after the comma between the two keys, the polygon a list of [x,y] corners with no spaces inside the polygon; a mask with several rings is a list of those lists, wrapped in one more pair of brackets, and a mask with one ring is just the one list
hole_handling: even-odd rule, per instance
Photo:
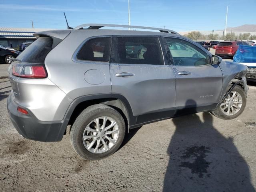
{"label": "gravel and dirt ground beneath and around the silver SUV", "polygon": [[237,119],[198,113],[148,124],[112,156],[86,161],[68,133],[54,143],[22,138],[6,109],[10,82],[0,79],[0,191],[253,192],[256,127],[245,122],[256,122],[256,83],[249,88]]}

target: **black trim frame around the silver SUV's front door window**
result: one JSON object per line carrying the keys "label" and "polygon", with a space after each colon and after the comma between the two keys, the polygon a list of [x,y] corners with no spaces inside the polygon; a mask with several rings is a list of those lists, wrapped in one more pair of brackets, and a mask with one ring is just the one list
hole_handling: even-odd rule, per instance
{"label": "black trim frame around the silver SUV's front door window", "polygon": [[[175,37],[175,36],[162,36],[163,37],[163,39],[164,39],[164,44],[166,44],[166,48],[168,48],[168,44],[167,44],[167,42],[166,42],[166,40],[165,40],[165,38],[175,38],[175,39],[181,39],[181,40],[184,40],[184,41],[187,41],[187,42],[189,42],[189,43],[191,43],[191,44],[193,44],[194,46],[196,46],[197,48],[199,48],[200,50],[202,50],[203,52],[205,52],[206,53],[206,55],[208,56],[207,57],[207,59],[208,59],[208,62],[209,62],[209,64],[206,64],[206,65],[175,65],[175,63],[174,63],[174,60],[173,60],[173,58],[172,58],[172,53],[170,52],[170,50],[169,50],[169,48],[168,48],[168,50],[166,50],[166,52],[170,52],[170,56],[171,56],[171,58],[169,58],[169,62],[171,62],[171,65],[173,65],[173,66],[178,66],[178,67],[204,67],[204,66],[210,66],[210,65],[212,65],[212,62],[211,62],[211,60],[210,60],[210,58],[212,57],[212,54],[210,53],[208,53],[208,52],[206,52],[205,50],[205,48],[201,48],[200,47],[200,45],[198,44],[198,43],[196,43],[196,42],[191,42],[191,41],[189,41],[189,40],[187,40],[187,39],[185,39],[185,38],[180,38],[180,37]],[[205,50],[204,50],[205,49]],[[168,55],[168,54],[167,54]]]}

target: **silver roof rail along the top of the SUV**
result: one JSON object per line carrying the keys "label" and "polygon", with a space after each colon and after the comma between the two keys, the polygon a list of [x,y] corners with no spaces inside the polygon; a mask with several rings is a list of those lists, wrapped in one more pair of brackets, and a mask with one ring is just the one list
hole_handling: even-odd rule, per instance
{"label": "silver roof rail along the top of the SUV", "polygon": [[114,25],[114,24],[82,24],[79,25],[77,27],[75,27],[74,29],[83,29],[83,27],[88,26],[88,28],[86,29],[99,29],[102,27],[123,27],[123,28],[138,28],[138,29],[150,29],[150,30],[158,30],[160,32],[164,32],[164,33],[172,33],[172,34],[177,34],[179,35],[177,32],[173,31],[173,30],[169,30],[169,29],[162,29],[162,28],[154,28],[154,27],[143,27],[143,26],[133,26],[133,25]]}

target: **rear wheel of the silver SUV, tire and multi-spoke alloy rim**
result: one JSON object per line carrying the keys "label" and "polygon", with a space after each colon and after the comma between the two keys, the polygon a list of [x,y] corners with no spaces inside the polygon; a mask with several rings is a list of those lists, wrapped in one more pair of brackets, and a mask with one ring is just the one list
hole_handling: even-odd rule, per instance
{"label": "rear wheel of the silver SUV, tire and multi-spoke alloy rim", "polygon": [[76,118],[70,142],[79,156],[100,160],[112,155],[124,140],[125,123],[121,114],[110,106],[97,104],[86,108]]}

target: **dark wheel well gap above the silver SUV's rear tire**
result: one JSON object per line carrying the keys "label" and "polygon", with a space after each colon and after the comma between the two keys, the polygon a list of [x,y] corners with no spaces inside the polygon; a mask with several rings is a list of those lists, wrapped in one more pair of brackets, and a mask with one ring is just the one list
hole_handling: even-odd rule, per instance
{"label": "dark wheel well gap above the silver SUV's rear tire", "polygon": [[[72,115],[70,116],[70,119],[68,122],[68,125],[70,125],[70,130],[72,129],[72,125],[74,124],[74,121],[79,116],[79,114],[88,106],[95,105],[95,104],[105,104],[117,110],[124,118],[124,122],[126,124],[126,131],[129,132],[129,129],[128,129],[129,116],[128,116],[127,109],[123,104],[123,102],[117,98],[104,98],[104,99],[95,99],[95,100],[87,100],[84,102],[80,102],[72,112]],[[65,131],[65,134],[66,134],[66,131]]]}

